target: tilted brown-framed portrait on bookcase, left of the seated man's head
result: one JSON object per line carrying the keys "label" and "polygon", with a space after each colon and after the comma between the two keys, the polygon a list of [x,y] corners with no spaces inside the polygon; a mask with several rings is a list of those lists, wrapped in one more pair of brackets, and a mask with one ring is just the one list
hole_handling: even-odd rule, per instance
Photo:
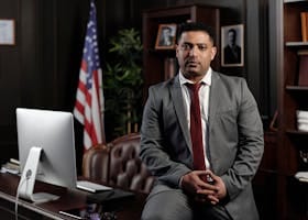
{"label": "tilted brown-framed portrait on bookcase, left of the seated man's head", "polygon": [[173,50],[175,48],[176,24],[160,24],[156,36],[156,50]]}

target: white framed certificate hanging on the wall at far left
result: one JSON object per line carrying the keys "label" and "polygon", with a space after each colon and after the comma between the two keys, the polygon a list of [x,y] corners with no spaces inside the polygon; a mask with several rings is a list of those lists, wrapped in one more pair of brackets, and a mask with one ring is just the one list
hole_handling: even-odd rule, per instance
{"label": "white framed certificate hanging on the wall at far left", "polygon": [[0,19],[0,45],[15,45],[15,21]]}

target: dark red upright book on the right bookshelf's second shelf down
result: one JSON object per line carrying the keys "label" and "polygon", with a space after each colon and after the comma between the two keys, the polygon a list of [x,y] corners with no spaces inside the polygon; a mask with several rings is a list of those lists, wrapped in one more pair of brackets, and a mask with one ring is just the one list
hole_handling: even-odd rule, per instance
{"label": "dark red upright book on the right bookshelf's second shelf down", "polygon": [[308,50],[298,51],[298,86],[308,86]]}

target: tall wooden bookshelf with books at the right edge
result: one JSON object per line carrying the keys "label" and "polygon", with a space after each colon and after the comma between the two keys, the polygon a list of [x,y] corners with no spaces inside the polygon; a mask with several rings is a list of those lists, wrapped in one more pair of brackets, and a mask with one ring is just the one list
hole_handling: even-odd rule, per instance
{"label": "tall wooden bookshelf with books at the right edge", "polygon": [[[278,151],[277,151],[277,219],[308,219],[308,184],[295,178],[308,172],[300,151],[308,151],[308,132],[297,130],[297,110],[308,110],[308,87],[299,86],[299,51],[308,50],[302,41],[300,13],[308,11],[308,1],[276,1],[277,73],[278,76]],[[279,35],[283,33],[283,35]],[[279,59],[280,58],[280,59]]]}

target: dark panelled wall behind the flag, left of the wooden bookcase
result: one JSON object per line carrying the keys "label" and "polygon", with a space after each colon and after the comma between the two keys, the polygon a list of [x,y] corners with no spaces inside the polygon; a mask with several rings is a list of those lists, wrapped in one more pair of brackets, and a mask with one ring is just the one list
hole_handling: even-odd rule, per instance
{"label": "dark panelled wall behind the flag, left of the wooden bookcase", "polygon": [[[16,107],[73,110],[89,2],[0,0],[0,19],[15,21],[15,45],[0,45],[0,162],[18,157]],[[140,22],[133,20],[132,2],[96,1],[102,63],[107,38]],[[82,135],[76,124],[80,165]]]}

